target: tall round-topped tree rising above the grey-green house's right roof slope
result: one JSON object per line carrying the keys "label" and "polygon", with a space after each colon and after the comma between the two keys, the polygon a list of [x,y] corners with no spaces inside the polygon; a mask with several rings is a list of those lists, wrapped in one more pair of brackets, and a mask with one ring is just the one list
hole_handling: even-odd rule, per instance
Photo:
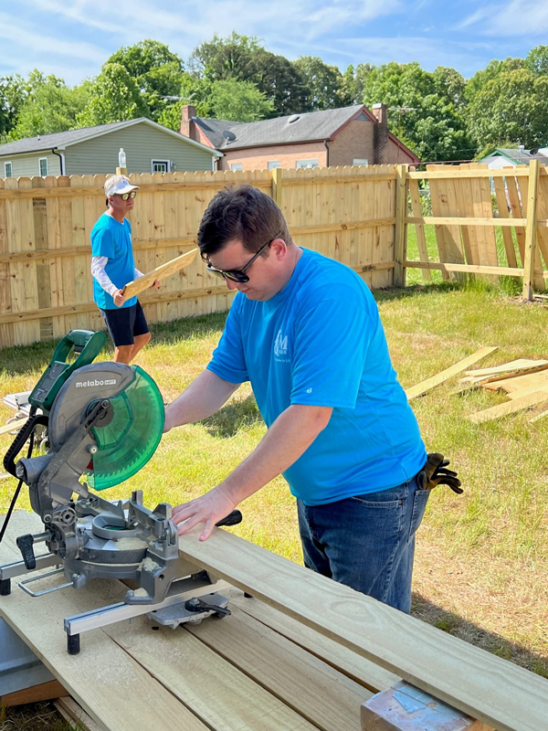
{"label": "tall round-topped tree rising above the grey-green house's right roof slope", "polygon": [[173,105],[184,77],[184,63],[176,53],[156,40],[142,40],[113,53],[107,64],[121,64],[134,79],[149,112],[158,120],[162,111]]}

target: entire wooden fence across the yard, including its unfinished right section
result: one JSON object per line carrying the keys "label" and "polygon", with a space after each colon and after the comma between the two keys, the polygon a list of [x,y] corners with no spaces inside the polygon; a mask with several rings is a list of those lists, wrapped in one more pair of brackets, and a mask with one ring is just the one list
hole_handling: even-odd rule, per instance
{"label": "entire wooden fence across the yard, including its unfinished right section", "polygon": [[[277,201],[298,244],[342,261],[372,288],[405,286],[406,269],[414,267],[425,279],[431,270],[444,279],[522,277],[523,297],[531,300],[533,286],[543,291],[548,279],[548,173],[536,160],[501,170],[372,165],[130,177],[141,186],[131,221],[143,272],[195,247],[218,190],[249,183]],[[105,209],[105,178],[0,179],[0,347],[103,327],[92,302],[90,233]],[[425,193],[432,216],[423,215]],[[409,225],[416,227],[416,261],[407,259]],[[427,251],[428,225],[438,261]],[[140,299],[155,323],[227,310],[233,294],[197,257]]]}

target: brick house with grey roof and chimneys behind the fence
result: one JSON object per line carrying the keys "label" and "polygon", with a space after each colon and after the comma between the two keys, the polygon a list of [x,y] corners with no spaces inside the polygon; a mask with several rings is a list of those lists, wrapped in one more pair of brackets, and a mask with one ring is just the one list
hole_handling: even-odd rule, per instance
{"label": "brick house with grey roof and chimneys behind the fence", "polygon": [[385,104],[374,104],[372,111],[358,104],[262,122],[208,120],[184,105],[180,132],[223,153],[218,170],[419,162],[388,131]]}

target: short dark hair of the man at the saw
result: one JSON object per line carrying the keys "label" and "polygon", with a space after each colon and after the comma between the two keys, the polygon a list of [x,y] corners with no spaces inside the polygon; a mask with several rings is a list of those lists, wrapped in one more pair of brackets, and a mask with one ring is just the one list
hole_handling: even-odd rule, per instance
{"label": "short dark hair of the man at the saw", "polygon": [[244,249],[256,252],[274,238],[293,243],[288,225],[270,196],[252,185],[220,190],[205,209],[198,229],[202,259],[237,239]]}

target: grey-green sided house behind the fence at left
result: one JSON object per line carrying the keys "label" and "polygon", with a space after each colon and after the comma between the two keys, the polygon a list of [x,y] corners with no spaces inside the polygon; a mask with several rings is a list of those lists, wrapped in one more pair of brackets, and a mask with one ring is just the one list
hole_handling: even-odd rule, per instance
{"label": "grey-green sided house behind the fence at left", "polygon": [[2,144],[0,177],[106,175],[115,172],[121,148],[128,173],[215,170],[223,155],[142,117]]}

